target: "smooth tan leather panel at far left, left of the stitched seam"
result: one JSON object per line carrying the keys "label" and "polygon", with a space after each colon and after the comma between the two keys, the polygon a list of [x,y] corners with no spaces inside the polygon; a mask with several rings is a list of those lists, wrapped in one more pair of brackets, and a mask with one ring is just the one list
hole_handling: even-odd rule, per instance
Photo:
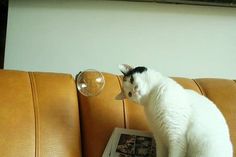
{"label": "smooth tan leather panel at far left, left of the stitched seam", "polygon": [[35,156],[34,120],[28,74],[0,71],[0,156]]}

